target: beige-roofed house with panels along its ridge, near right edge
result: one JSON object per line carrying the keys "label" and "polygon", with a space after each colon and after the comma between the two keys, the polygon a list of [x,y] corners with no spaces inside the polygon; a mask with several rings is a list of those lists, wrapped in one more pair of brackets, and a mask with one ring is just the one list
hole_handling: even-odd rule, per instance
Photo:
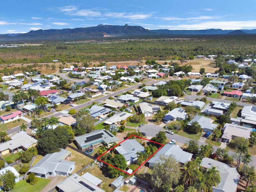
{"label": "beige-roofed house with panels along its ridge, near right edge", "polygon": [[222,140],[227,140],[227,143],[234,139],[235,137],[243,137],[249,139],[251,136],[252,128],[233,125],[226,123],[223,127],[223,135],[221,136]]}

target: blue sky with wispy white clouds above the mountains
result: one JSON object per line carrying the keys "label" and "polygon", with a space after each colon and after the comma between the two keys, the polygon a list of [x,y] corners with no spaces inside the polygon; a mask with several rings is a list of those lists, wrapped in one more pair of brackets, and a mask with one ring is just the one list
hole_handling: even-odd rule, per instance
{"label": "blue sky with wispy white clouds above the mountains", "polygon": [[[122,3],[124,2],[124,3]],[[1,1],[0,34],[139,25],[148,29],[254,29],[254,0]]]}

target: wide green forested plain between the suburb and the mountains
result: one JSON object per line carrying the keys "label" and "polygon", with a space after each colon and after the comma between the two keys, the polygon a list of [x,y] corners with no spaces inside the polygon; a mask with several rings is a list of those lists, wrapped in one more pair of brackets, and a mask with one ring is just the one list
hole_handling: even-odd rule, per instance
{"label": "wide green forested plain between the suburb and the mountains", "polygon": [[162,39],[46,41],[37,46],[0,48],[0,64],[84,61],[175,60],[196,55],[255,55],[255,35],[191,36]]}

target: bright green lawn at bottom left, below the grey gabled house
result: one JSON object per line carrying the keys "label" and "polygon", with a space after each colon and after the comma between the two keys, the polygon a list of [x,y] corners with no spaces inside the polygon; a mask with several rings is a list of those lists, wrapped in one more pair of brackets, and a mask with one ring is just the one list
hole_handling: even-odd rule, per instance
{"label": "bright green lawn at bottom left, below the grey gabled house", "polygon": [[38,182],[35,185],[30,185],[29,183],[27,183],[27,181],[21,180],[15,184],[12,192],[40,192],[50,181],[50,179],[38,178]]}

